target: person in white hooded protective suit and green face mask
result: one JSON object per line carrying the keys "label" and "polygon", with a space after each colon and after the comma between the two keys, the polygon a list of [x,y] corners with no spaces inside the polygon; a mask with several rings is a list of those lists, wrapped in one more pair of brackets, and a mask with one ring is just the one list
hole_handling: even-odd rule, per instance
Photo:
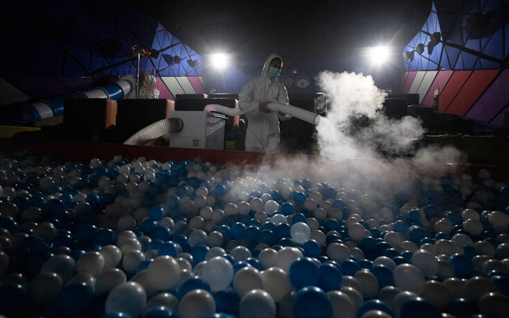
{"label": "person in white hooded protective suit and green face mask", "polygon": [[279,120],[292,116],[272,112],[269,103],[288,104],[285,85],[278,82],[283,60],[272,53],[265,61],[262,76],[248,82],[239,94],[239,107],[247,116],[245,149],[256,152],[275,152],[279,148]]}

